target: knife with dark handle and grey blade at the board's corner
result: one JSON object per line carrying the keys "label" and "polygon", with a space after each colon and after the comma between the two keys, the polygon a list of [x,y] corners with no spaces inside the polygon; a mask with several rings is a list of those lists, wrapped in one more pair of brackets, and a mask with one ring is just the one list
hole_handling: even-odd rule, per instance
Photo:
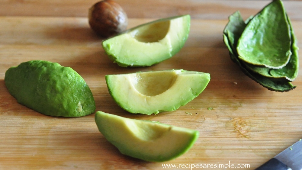
{"label": "knife with dark handle and grey blade at the board's corner", "polygon": [[298,140],[255,170],[301,170],[302,140]]}

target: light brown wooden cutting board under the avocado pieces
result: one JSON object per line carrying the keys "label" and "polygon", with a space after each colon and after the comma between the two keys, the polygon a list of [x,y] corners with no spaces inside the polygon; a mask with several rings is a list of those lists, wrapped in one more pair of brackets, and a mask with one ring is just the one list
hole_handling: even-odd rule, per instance
{"label": "light brown wooden cutting board under the avocado pieces", "polygon": [[[247,18],[269,1],[118,2],[129,13],[129,27],[158,17],[191,14],[185,47],[155,66],[122,68],[108,59],[101,39],[89,28],[86,13],[94,1],[0,2],[0,169],[190,169],[162,168],[162,164],[229,162],[250,166],[236,169],[255,169],[302,138],[302,74],[293,82],[297,85],[293,91],[269,91],[240,71],[222,40],[231,13],[239,9]],[[302,2],[284,4],[302,49]],[[200,137],[191,150],[169,162],[123,156],[98,131],[94,114],[50,117],[16,102],[5,87],[5,71],[34,59],[76,70],[91,88],[97,111],[196,129]],[[165,69],[208,72],[211,81],[201,95],[177,111],[150,116],[127,113],[108,93],[106,74]]]}

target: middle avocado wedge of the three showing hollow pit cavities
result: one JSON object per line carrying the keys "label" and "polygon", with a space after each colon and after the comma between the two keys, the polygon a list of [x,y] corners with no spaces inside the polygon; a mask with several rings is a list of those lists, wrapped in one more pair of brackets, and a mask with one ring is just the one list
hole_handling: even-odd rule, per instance
{"label": "middle avocado wedge of the three showing hollow pit cavities", "polygon": [[210,81],[210,74],[165,70],[106,75],[114,101],[130,113],[157,114],[174,111],[196,98]]}

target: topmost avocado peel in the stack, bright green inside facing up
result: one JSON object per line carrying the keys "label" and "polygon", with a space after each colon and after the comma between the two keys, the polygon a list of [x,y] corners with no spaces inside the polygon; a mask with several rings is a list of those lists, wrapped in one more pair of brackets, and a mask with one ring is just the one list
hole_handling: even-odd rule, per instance
{"label": "topmost avocado peel in the stack, bright green inside facing up", "polygon": [[281,0],[274,0],[252,18],[238,40],[239,59],[281,69],[291,56],[291,34]]}

